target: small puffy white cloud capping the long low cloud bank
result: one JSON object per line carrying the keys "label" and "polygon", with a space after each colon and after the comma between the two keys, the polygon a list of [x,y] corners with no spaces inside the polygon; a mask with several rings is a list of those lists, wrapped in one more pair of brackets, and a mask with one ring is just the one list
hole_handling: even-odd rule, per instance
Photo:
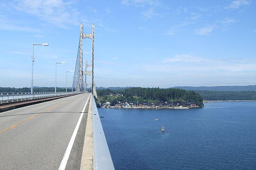
{"label": "small puffy white cloud capping the long low cloud bank", "polygon": [[205,62],[206,59],[191,56],[189,54],[176,54],[174,57],[167,58],[163,60],[163,63],[170,63],[170,62]]}

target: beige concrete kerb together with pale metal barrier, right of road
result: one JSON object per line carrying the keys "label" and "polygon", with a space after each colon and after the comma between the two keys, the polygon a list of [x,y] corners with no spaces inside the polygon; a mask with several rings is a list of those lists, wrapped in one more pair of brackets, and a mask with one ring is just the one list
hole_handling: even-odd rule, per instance
{"label": "beige concrete kerb together with pale metal barrier, right of road", "polygon": [[93,95],[88,110],[80,170],[115,170]]}

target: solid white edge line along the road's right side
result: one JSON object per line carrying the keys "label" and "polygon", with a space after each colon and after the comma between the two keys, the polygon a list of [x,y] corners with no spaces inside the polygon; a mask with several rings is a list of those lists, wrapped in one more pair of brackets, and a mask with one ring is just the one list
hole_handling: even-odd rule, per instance
{"label": "solid white edge line along the road's right side", "polygon": [[64,153],[64,156],[62,158],[62,161],[60,163],[60,166],[59,166],[58,170],[65,170],[65,168],[66,168],[67,161],[68,161],[69,155],[71,153],[71,149],[72,149],[73,144],[74,144],[75,136],[77,134],[78,128],[79,128],[81,120],[82,120],[82,116],[83,116],[84,110],[86,108],[86,105],[87,105],[90,97],[91,97],[91,94],[89,95],[88,100],[87,100],[87,102],[85,103],[85,105],[83,107],[82,113],[80,115],[80,118],[78,119],[78,122],[77,122],[76,127],[75,127],[74,132],[73,132],[73,135],[71,136],[71,139],[70,139],[70,141],[68,143],[67,149],[66,149],[66,151]]}

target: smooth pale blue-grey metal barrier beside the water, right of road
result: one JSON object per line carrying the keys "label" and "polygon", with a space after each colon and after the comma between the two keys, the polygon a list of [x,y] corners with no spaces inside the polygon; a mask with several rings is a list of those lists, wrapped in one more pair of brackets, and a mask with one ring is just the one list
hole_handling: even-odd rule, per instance
{"label": "smooth pale blue-grey metal barrier beside the water, right of road", "polygon": [[115,170],[94,97],[92,99],[94,170]]}

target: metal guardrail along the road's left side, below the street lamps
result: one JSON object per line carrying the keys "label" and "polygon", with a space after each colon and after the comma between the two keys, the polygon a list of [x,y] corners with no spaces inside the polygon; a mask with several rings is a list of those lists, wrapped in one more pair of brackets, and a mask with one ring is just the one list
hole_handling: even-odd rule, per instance
{"label": "metal guardrail along the road's left side, below the street lamps", "polygon": [[[74,94],[78,92],[12,92],[12,93],[0,93],[0,103],[16,102],[22,100],[31,100],[38,98],[54,97],[67,94]],[[80,93],[80,92],[79,92]]]}

